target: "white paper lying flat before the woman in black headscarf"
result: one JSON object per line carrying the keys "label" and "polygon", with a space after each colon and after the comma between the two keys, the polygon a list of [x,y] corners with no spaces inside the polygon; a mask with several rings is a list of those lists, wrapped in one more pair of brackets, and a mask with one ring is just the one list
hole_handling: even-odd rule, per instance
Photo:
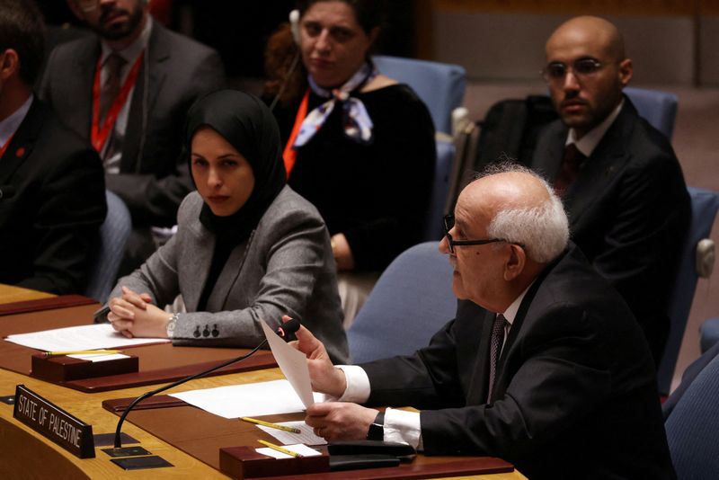
{"label": "white paper lying flat before the woman in black headscarf", "polygon": [[111,324],[68,326],[41,332],[8,335],[8,342],[41,351],[95,350],[170,342],[162,338],[125,338],[112,329]]}

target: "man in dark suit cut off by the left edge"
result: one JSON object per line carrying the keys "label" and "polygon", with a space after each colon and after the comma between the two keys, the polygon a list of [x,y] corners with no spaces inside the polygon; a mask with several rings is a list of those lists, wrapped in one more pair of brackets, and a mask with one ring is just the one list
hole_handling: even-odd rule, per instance
{"label": "man in dark suit cut off by the left edge", "polygon": [[0,0],[0,283],[84,293],[105,218],[102,163],[32,94],[40,13]]}

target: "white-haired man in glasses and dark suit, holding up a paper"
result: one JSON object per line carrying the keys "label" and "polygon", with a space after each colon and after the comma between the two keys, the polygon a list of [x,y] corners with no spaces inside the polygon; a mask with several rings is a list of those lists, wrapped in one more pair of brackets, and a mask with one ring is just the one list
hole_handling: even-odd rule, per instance
{"label": "white-haired man in glasses and dark suit, holding up a paper", "polygon": [[[672,478],[652,355],[624,300],[568,244],[535,173],[502,165],[459,196],[439,244],[457,316],[412,356],[334,367],[304,327],[306,422],[327,440],[490,455],[529,478]],[[412,405],[420,413],[360,406]]]}

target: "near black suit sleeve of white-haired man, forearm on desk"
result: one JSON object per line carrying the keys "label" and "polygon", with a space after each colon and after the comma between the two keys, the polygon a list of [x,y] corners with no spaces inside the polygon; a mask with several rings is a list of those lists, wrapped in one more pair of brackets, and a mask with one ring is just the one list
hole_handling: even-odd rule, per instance
{"label": "near black suit sleeve of white-haired man, forearm on desk", "polygon": [[[597,353],[602,341],[590,326],[594,321],[575,307],[555,308],[543,316],[513,347],[526,360],[503,395],[498,392],[499,400],[422,411],[425,451],[522,458],[563,426],[582,422],[608,397],[611,386],[606,356]],[[497,385],[502,385],[499,378]]]}

